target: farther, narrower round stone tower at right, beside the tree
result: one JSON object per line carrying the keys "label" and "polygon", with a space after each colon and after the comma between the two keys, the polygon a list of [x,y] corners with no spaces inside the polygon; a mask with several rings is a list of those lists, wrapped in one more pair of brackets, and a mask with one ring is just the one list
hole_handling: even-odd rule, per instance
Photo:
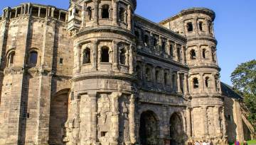
{"label": "farther, narrower round stone tower at right, beside the tree", "polygon": [[[213,31],[215,13],[207,8],[181,11],[187,37],[186,60],[189,70],[192,127],[194,139],[213,139],[225,143],[225,117],[220,91],[220,67]],[[221,143],[222,142],[222,143]]]}

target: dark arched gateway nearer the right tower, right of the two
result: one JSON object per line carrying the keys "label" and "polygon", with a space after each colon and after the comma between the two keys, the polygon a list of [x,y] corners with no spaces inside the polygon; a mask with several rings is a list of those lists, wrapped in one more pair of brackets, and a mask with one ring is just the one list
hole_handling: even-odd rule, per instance
{"label": "dark arched gateway nearer the right tower, right of the two", "polygon": [[174,113],[170,118],[170,145],[182,145],[183,142],[183,124],[181,117]]}

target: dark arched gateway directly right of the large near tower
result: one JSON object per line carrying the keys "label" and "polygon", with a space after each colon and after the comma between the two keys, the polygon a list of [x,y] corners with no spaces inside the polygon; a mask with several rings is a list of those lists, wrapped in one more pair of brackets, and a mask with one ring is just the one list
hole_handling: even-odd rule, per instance
{"label": "dark arched gateway directly right of the large near tower", "polygon": [[143,145],[157,145],[158,142],[158,124],[156,115],[152,111],[143,112],[139,122],[139,139]]}

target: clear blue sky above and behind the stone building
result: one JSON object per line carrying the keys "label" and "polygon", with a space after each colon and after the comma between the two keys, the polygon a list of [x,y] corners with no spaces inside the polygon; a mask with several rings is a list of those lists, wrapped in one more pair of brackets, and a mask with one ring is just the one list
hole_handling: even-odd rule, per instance
{"label": "clear blue sky above and behind the stone building", "polygon": [[[22,2],[68,8],[68,0],[2,0],[0,8]],[[231,84],[230,74],[238,64],[256,58],[255,0],[137,0],[136,13],[159,22],[184,8],[206,7],[216,13],[215,37],[218,40],[218,64],[221,80]]]}

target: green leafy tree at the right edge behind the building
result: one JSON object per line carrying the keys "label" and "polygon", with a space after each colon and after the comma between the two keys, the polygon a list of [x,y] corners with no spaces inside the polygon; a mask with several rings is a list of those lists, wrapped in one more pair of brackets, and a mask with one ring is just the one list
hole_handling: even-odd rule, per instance
{"label": "green leafy tree at the right edge behind the building", "polygon": [[250,110],[248,120],[256,130],[256,60],[240,64],[231,74],[235,91],[245,98],[245,105]]}

